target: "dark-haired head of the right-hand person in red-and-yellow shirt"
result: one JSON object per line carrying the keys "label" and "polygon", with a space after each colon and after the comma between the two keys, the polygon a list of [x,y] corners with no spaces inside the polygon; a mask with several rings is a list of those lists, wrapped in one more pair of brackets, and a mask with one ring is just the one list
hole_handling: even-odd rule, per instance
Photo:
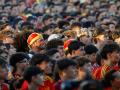
{"label": "dark-haired head of the right-hand person in red-and-yellow shirt", "polygon": [[119,58],[119,45],[116,43],[106,44],[101,50],[101,57],[105,61],[109,61],[111,64],[116,64]]}

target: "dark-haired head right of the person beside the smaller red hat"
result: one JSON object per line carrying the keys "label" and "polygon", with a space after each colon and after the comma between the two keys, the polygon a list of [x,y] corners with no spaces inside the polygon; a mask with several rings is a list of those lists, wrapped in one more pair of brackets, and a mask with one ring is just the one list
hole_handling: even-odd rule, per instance
{"label": "dark-haired head right of the person beside the smaller red hat", "polygon": [[87,45],[85,48],[85,53],[90,59],[91,63],[96,63],[97,47],[94,45]]}

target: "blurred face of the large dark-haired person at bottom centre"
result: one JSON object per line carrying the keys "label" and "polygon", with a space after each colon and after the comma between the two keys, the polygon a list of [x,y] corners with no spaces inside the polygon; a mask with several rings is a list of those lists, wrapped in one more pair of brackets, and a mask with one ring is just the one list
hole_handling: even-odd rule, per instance
{"label": "blurred face of the large dark-haired person at bottom centre", "polygon": [[77,75],[77,68],[75,66],[69,66],[65,71],[65,77],[74,80]]}

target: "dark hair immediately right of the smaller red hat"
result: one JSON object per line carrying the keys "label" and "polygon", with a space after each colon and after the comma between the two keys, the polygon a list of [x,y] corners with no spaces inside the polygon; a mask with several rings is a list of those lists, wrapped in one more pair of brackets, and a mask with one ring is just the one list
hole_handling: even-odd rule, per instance
{"label": "dark hair immediately right of the smaller red hat", "polygon": [[68,45],[68,51],[70,54],[72,54],[73,50],[78,50],[81,46],[85,46],[85,45],[82,42],[74,40]]}

